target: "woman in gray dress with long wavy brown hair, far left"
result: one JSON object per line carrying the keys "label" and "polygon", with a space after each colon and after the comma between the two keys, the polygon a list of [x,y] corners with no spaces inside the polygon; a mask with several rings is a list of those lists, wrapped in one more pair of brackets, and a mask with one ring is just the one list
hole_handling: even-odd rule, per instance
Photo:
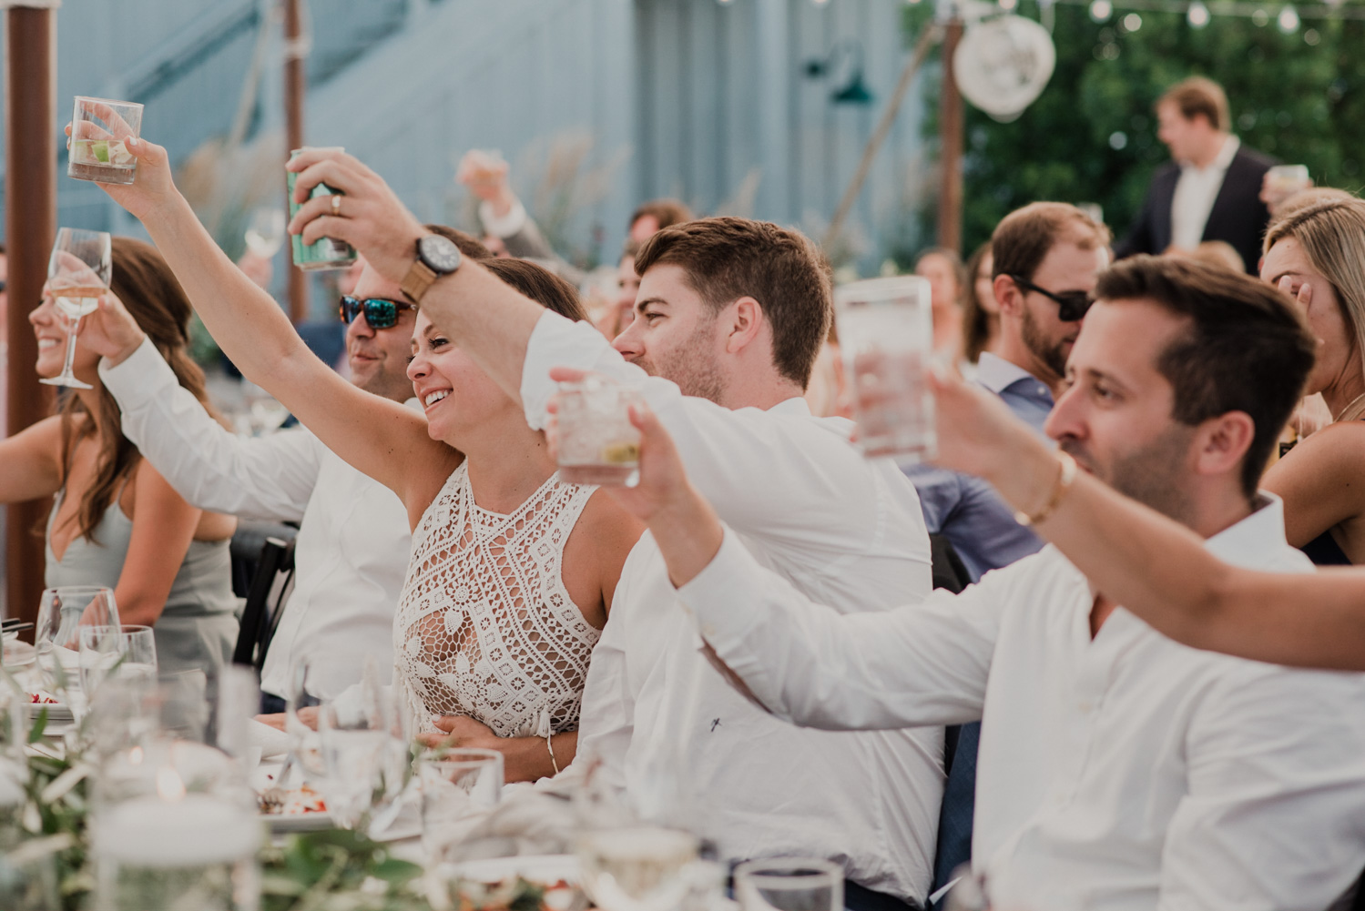
{"label": "woman in gray dress with long wavy brown hair, far left", "polygon": [[[190,301],[154,247],[113,239],[111,290],[153,340],[180,385],[206,400],[188,353]],[[53,296],[29,314],[37,372],[56,376],[67,325]],[[0,442],[0,503],[53,496],[46,525],[46,585],[106,585],[124,623],[153,627],[162,674],[213,675],[232,655],[236,599],[228,539],[236,520],[194,509],[142,460],[120,430],[119,406],[100,382],[100,357],[76,342],[74,389],[57,415]]]}

